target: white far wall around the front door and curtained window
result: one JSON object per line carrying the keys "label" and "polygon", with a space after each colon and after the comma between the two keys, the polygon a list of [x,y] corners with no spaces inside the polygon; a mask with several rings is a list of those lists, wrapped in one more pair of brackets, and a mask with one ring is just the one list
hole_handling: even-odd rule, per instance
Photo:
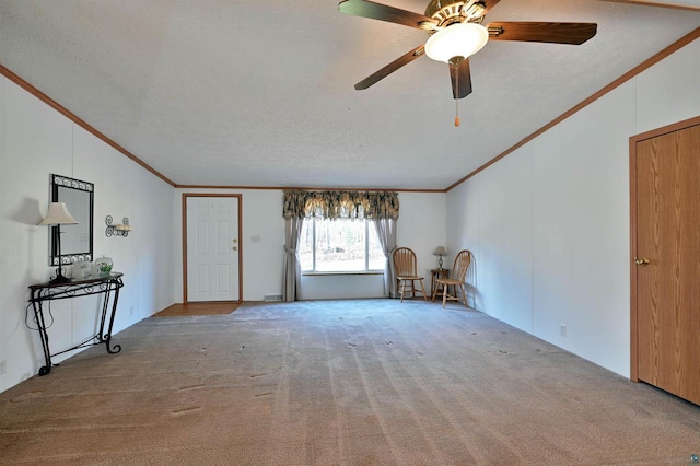
{"label": "white far wall around the front door and curtained window", "polygon": [[[240,194],[243,206],[243,300],[262,301],[266,294],[282,293],[284,260],[284,219],[282,190],[279,189],[176,189],[173,201],[173,255],[177,279],[172,299],[183,302],[182,195],[183,193]],[[420,272],[430,277],[436,266],[434,248],[445,243],[445,194],[399,193],[397,242],[411,247]],[[259,236],[259,243],[252,237]],[[428,280],[427,280],[428,282]],[[384,286],[382,276],[305,277],[302,299],[378,298]],[[361,290],[361,293],[358,293]]]}

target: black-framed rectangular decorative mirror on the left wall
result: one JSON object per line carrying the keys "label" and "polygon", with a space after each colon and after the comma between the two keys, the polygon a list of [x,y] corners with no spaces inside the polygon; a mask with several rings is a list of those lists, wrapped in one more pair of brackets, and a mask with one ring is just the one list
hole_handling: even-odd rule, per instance
{"label": "black-framed rectangular decorative mirror on the left wall", "polygon": [[[75,225],[61,225],[60,264],[92,260],[94,185],[67,176],[51,175],[51,202],[66,202],[78,220]],[[51,226],[56,229],[57,226]],[[51,237],[49,265],[59,265],[58,245]]]}

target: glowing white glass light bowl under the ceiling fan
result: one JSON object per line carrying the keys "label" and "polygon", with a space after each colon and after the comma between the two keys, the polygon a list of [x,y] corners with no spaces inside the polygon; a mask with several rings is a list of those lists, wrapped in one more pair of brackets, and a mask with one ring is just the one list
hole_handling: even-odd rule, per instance
{"label": "glowing white glass light bowl under the ceiling fan", "polygon": [[489,40],[489,31],[481,24],[455,23],[438,31],[425,43],[425,55],[448,63],[453,57],[469,58]]}

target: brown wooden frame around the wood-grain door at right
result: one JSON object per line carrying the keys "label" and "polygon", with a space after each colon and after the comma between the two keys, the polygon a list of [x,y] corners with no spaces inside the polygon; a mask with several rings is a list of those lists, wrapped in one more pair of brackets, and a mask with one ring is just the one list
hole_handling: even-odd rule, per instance
{"label": "brown wooden frame around the wood-grain door at right", "polygon": [[637,258],[637,144],[646,139],[680,131],[692,126],[700,125],[700,116],[682,121],[674,123],[661,128],[652,129],[630,137],[630,380],[639,382],[639,341],[638,308],[637,308],[637,271],[639,266],[634,264]]}

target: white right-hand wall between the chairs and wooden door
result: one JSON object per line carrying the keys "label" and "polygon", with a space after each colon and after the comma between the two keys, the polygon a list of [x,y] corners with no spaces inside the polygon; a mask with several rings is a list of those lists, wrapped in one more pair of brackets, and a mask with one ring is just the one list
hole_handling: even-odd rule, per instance
{"label": "white right-hand wall between the chairs and wooden door", "polygon": [[695,40],[451,190],[477,308],[629,376],[629,138],[698,114]]}

